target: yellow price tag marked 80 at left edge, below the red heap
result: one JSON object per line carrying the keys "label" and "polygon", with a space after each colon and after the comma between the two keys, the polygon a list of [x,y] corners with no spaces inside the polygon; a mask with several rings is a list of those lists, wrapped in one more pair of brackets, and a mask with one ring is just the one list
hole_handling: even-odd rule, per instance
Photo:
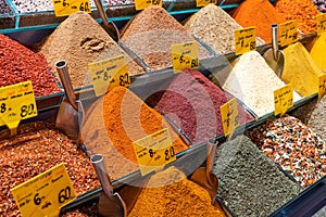
{"label": "yellow price tag marked 80 at left edge, below the red heap", "polygon": [[32,81],[0,88],[0,126],[7,125],[11,135],[16,135],[16,128],[22,119],[37,116],[37,107]]}

